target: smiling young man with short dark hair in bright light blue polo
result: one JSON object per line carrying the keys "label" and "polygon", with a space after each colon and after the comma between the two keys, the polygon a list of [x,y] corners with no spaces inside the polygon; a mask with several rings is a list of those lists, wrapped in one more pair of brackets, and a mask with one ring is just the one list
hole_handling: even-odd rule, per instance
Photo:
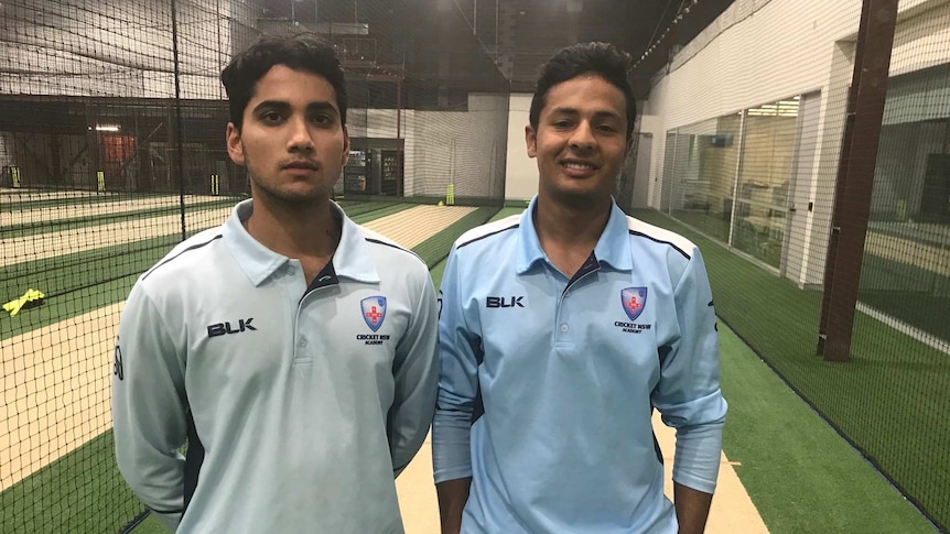
{"label": "smiling young man with short dark hair in bright light blue polo", "polygon": [[[433,462],[443,533],[700,533],[726,403],[699,250],[612,197],[636,116],[629,57],[570,46],[526,128],[539,188],[442,279]],[[677,428],[673,505],[654,408]]]}

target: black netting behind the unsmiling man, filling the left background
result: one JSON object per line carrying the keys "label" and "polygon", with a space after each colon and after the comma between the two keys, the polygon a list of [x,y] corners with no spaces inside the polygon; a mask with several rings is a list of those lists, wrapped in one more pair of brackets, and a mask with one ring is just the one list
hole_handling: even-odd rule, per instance
{"label": "black netting behind the unsmiling man, filling the left background", "polygon": [[[143,512],[115,467],[116,325],[139,274],[249,194],[218,76],[258,35],[336,48],[352,151],[334,195],[358,221],[450,192],[500,205],[508,85],[485,44],[496,14],[468,3],[0,3],[0,531],[117,532]],[[420,253],[434,264],[490,215]]]}

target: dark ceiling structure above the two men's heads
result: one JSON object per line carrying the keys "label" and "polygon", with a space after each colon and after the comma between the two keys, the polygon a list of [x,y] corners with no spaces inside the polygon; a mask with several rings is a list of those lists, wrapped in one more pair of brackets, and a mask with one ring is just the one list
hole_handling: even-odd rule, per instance
{"label": "dark ceiling structure above the two men's heads", "polygon": [[[407,79],[432,87],[487,89],[505,83],[512,91],[530,91],[538,66],[558,48],[611,42],[638,63],[631,80],[637,97],[644,98],[670,52],[690,42],[732,2],[268,0],[263,11],[268,18],[324,31],[360,28],[363,40],[381,43],[369,45],[374,63],[401,65]],[[355,36],[350,42],[357,42]]]}

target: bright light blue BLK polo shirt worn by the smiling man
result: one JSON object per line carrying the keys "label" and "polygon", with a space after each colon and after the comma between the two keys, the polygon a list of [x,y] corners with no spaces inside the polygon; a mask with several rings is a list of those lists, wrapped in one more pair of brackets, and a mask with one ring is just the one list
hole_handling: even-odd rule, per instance
{"label": "bright light blue BLK polo shirt worn by the smiling man", "polygon": [[464,533],[674,533],[673,479],[711,493],[726,403],[699,250],[614,205],[569,280],[531,214],[476,228],[442,279],[435,481],[472,477]]}

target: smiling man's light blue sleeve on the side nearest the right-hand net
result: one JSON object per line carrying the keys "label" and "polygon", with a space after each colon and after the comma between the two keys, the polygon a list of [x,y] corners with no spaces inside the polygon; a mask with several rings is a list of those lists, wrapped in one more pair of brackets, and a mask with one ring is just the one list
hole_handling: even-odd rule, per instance
{"label": "smiling man's light blue sleeve on the side nearest the right-hand net", "polygon": [[673,480],[712,493],[727,405],[720,390],[712,292],[699,249],[693,249],[673,298],[680,336],[661,350],[660,381],[652,402],[663,423],[677,429]]}

